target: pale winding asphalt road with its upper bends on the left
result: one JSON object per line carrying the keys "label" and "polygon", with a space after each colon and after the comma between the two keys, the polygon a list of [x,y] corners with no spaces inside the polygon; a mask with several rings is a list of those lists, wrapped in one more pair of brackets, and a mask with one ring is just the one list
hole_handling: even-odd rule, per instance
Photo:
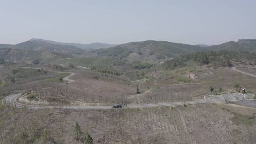
{"label": "pale winding asphalt road with its upper bends on the left", "polygon": [[[27,68],[27,67],[23,67]],[[41,68],[33,68],[33,69],[41,69]],[[55,71],[52,71],[55,72]],[[74,80],[69,79],[75,73],[73,72],[65,72],[70,73],[69,76],[65,77],[64,80],[68,81],[68,83],[74,82]],[[247,94],[245,99],[254,97],[255,94]],[[21,93],[13,94],[5,97],[2,100],[3,105],[10,105],[16,108],[27,108],[27,109],[45,109],[45,108],[62,108],[62,109],[111,109],[112,106],[50,106],[50,105],[29,105],[19,103],[17,99],[21,96]],[[169,102],[169,103],[153,103],[153,104],[144,104],[144,105],[128,105],[127,108],[150,108],[150,107],[164,107],[164,106],[180,106],[180,105],[188,105],[188,104],[201,104],[201,103],[216,103],[216,102],[224,102],[225,99],[228,100],[237,100],[243,99],[244,95],[241,93],[229,93],[222,94],[217,96],[206,96],[204,99],[198,99],[194,101],[181,101],[181,102]]]}

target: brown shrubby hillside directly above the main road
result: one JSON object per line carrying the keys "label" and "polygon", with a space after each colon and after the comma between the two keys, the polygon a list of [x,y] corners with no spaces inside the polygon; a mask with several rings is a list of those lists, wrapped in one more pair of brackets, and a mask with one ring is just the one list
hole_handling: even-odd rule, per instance
{"label": "brown shrubby hillside directly above the main road", "polygon": [[[235,82],[247,88],[248,92],[256,91],[255,77],[227,67],[198,66],[168,71],[149,71],[146,77],[152,75],[152,81],[144,81],[146,79],[131,81],[124,75],[117,76],[86,69],[66,71],[76,73],[71,77],[75,82],[67,85],[57,84],[47,91],[38,88],[41,100],[49,104],[84,106],[112,105],[121,103],[122,99],[127,104],[189,101],[203,99],[205,95],[220,94],[220,88],[221,93],[234,92],[236,91]],[[195,73],[199,78],[187,78],[187,73]],[[140,94],[136,94],[137,85]],[[210,92],[210,86],[214,87],[213,93]]]}

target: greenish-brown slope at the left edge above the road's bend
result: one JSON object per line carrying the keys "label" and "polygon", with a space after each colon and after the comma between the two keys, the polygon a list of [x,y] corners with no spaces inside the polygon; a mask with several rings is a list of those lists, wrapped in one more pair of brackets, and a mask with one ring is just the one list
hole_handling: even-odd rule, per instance
{"label": "greenish-brown slope at the left edge above the road's bend", "polygon": [[16,65],[0,68],[0,98],[30,88],[44,88],[59,85],[60,77],[67,74],[47,70],[26,69]]}

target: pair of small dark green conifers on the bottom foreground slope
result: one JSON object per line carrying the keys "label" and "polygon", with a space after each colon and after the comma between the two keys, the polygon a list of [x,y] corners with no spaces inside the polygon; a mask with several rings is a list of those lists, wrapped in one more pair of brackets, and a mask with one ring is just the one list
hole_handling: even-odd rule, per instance
{"label": "pair of small dark green conifers on the bottom foreground slope", "polygon": [[83,133],[78,122],[75,123],[74,134],[77,141],[81,141],[83,144],[93,144],[93,139],[88,132],[83,137],[81,137]]}

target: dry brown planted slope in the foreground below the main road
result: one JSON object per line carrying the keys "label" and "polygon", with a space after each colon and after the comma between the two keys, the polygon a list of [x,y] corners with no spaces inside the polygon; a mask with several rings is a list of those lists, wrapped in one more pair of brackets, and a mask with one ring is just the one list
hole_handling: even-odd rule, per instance
{"label": "dry brown planted slope in the foreground below the main road", "polygon": [[1,144],[255,144],[255,108],[199,104],[174,108],[27,110],[0,107]]}

